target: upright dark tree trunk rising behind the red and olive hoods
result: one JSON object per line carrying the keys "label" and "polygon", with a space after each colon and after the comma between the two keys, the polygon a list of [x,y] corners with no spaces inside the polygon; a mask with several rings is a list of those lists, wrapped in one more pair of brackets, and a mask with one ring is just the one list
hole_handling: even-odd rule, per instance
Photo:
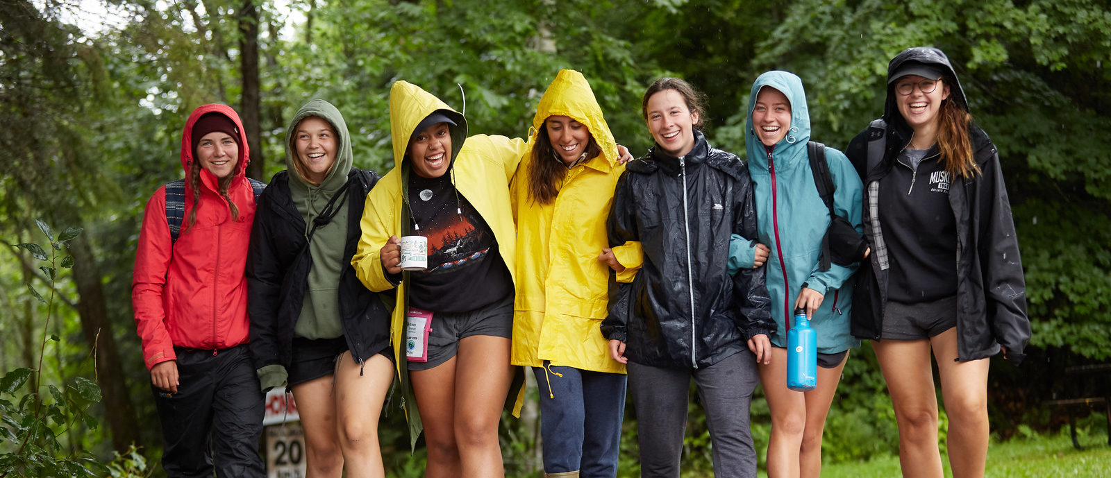
{"label": "upright dark tree trunk rising behind the red and olive hoods", "polygon": [[243,131],[247,133],[247,146],[251,150],[251,163],[247,165],[247,175],[262,180],[266,163],[262,159],[262,138],[260,131],[259,102],[259,9],[252,0],[244,0],[239,10],[240,69],[243,79],[242,106],[239,115],[243,120]]}

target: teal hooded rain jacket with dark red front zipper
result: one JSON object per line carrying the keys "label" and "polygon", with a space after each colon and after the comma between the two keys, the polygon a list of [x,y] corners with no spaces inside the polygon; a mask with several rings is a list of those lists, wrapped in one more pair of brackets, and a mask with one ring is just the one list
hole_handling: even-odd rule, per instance
{"label": "teal hooded rain jacket with dark red front zipper", "polygon": [[[791,103],[791,128],[771,153],[755,135],[752,110],[763,87],[774,88]],[[810,325],[818,330],[818,352],[837,354],[860,345],[849,334],[852,275],[859,264],[844,267],[832,264],[819,272],[822,235],[830,224],[829,209],[818,194],[807,156],[810,141],[810,113],[802,80],[785,71],[769,71],[757,78],[749,98],[745,131],[749,173],[755,184],[759,242],[771,253],[764,264],[768,292],[771,296],[775,334],[772,345],[787,346],[788,324],[792,323],[794,301],[803,283],[825,295],[814,312]],[[860,222],[862,186],[849,160],[838,150],[827,146],[825,161],[833,176],[833,210],[862,231]],[[777,227],[778,225],[778,227]],[[730,272],[752,266],[755,244],[734,236],[730,245]]]}

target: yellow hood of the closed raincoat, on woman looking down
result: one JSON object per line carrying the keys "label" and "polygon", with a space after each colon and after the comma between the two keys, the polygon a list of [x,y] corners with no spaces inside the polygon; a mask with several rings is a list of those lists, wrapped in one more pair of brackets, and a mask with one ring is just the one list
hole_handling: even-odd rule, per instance
{"label": "yellow hood of the closed raincoat, on woman looking down", "polygon": [[[392,109],[392,104],[391,104]],[[544,128],[544,120],[548,116],[570,116],[590,130],[594,136],[594,142],[602,149],[602,156],[610,167],[618,164],[618,143],[613,141],[613,133],[605,124],[602,116],[602,109],[594,99],[594,92],[590,90],[587,79],[574,70],[560,70],[556,74],[556,80],[548,87],[540,104],[537,105],[537,115],[532,119],[532,129],[529,131],[529,151],[527,155],[531,157],[532,144],[537,141],[537,134]],[[421,116],[420,120],[424,118]],[[417,120],[420,122],[420,120]]]}

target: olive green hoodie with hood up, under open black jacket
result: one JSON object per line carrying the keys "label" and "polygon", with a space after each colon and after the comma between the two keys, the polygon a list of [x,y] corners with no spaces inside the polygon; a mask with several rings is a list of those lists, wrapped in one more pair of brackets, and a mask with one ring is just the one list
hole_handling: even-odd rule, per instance
{"label": "olive green hoodie with hood up, under open black jacket", "polygon": [[[329,122],[336,131],[336,162],[331,171],[319,185],[304,177],[304,166],[297,155],[297,129],[301,120],[318,116]],[[289,170],[289,191],[297,211],[304,218],[306,235],[312,227],[312,221],[323,213],[328,202],[337,193],[341,193],[351,171],[351,138],[348,134],[343,115],[331,103],[324,100],[312,100],[301,106],[286,131],[286,167]],[[333,217],[348,216],[348,201],[338,201],[339,207]],[[309,272],[308,291],[301,306],[301,315],[297,319],[293,332],[297,337],[336,338],[343,335],[340,325],[339,284],[340,272],[347,264],[343,261],[343,245],[347,243],[347,221],[330,221],[318,228],[309,242],[309,253],[312,255],[312,269]]]}

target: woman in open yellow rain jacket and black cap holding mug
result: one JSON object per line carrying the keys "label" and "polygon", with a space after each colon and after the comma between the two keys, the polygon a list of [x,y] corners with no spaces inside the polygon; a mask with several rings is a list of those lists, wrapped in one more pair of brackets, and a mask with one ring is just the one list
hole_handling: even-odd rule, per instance
{"label": "woman in open yellow rain jacket and black cap holding mug", "polygon": [[[526,143],[467,138],[462,114],[404,81],[390,90],[390,129],[397,165],[367,197],[351,264],[371,291],[397,287],[390,335],[413,439],[423,425],[424,476],[500,477],[501,408],[517,397],[519,415],[523,398],[523,374],[514,377],[509,360],[516,274],[509,182]],[[401,271],[398,238],[407,235],[427,237],[426,269]],[[429,333],[416,337],[428,349],[417,356],[401,347],[413,309],[431,315]]]}

